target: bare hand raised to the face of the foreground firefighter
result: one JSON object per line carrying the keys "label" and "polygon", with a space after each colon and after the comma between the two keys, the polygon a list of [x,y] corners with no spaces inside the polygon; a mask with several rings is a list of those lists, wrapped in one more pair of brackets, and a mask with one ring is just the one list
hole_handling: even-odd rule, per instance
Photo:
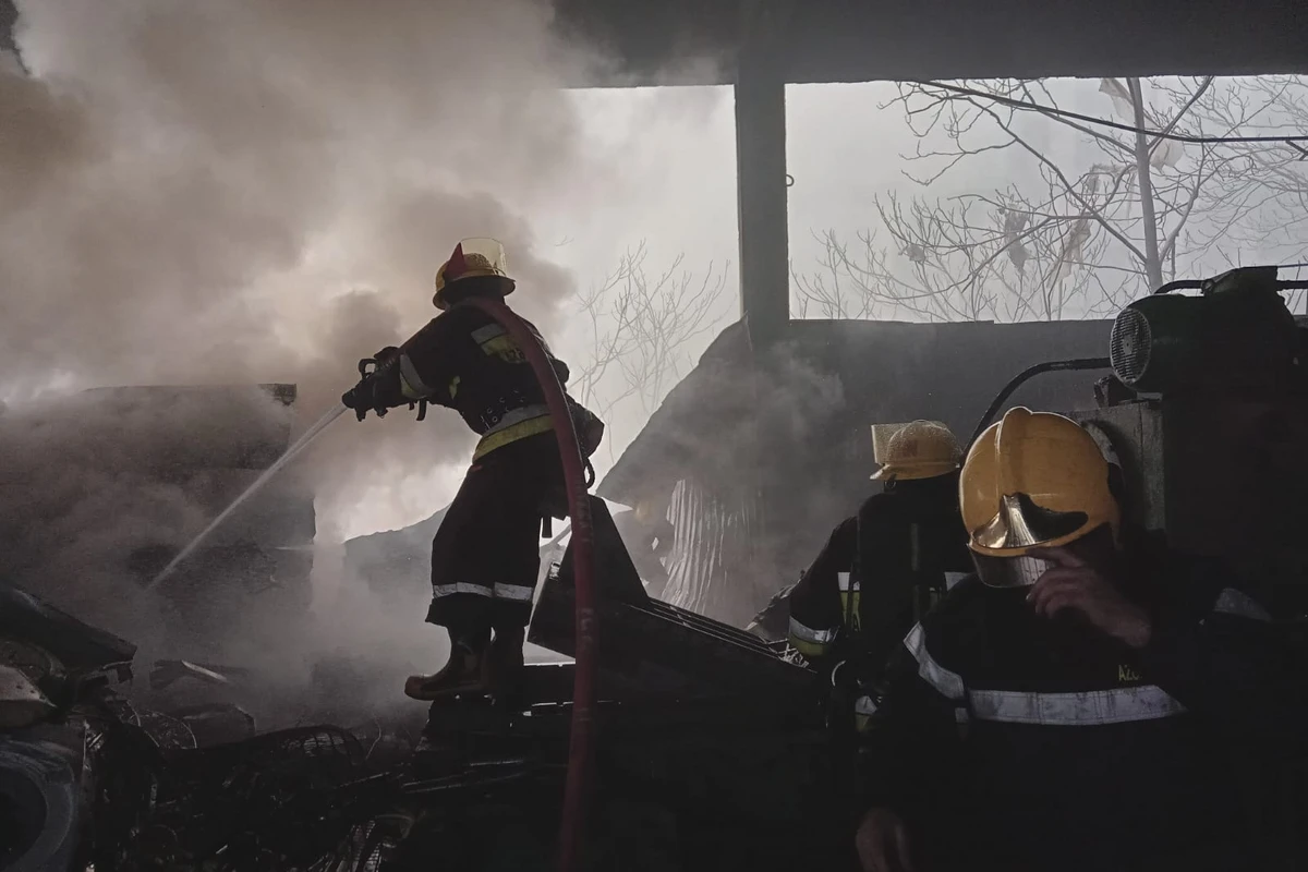
{"label": "bare hand raised to the face of the foreground firefighter", "polygon": [[1037,614],[1053,617],[1071,609],[1133,648],[1148,645],[1154,629],[1148,612],[1122,596],[1100,570],[1065,548],[1042,548],[1031,556],[1053,563],[1027,594]]}

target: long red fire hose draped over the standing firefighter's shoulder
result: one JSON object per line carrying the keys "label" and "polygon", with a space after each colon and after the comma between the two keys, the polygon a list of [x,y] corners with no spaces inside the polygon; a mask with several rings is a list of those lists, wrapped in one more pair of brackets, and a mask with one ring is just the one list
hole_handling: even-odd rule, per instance
{"label": "long red fire hose draped over the standing firefighter's shoulder", "polygon": [[460,306],[476,306],[496,319],[527,356],[549,407],[559,441],[559,459],[568,488],[568,515],[572,518],[573,574],[577,595],[577,651],[573,677],[572,732],[568,745],[568,782],[564,788],[562,824],[559,834],[559,868],[579,868],[581,843],[586,831],[586,800],[590,792],[591,729],[595,706],[595,532],[590,522],[585,463],[581,441],[573,425],[559,375],[527,324],[497,299],[471,297]]}

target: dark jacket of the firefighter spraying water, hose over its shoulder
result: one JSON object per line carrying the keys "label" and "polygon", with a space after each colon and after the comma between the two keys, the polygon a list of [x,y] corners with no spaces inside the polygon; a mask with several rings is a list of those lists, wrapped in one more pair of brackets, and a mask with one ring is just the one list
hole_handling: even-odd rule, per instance
{"label": "dark jacket of the firefighter spraying water, hose over its shoulder", "polygon": [[[527,322],[536,339],[540,333]],[[553,357],[561,384],[568,365]],[[455,409],[481,435],[473,460],[490,451],[552,429],[549,409],[522,349],[490,315],[471,306],[455,306],[432,319],[400,348],[396,401],[425,399]],[[603,424],[569,397],[583,451],[599,442]]]}

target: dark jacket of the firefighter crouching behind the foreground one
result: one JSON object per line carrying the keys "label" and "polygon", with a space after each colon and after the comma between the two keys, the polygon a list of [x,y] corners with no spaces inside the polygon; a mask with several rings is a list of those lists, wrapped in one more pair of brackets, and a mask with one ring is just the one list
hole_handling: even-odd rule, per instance
{"label": "dark jacket of the firefighter crouching behind the foreground one", "polygon": [[957,476],[900,482],[842,520],[790,594],[795,650],[880,671],[916,613],[972,569],[956,494]]}

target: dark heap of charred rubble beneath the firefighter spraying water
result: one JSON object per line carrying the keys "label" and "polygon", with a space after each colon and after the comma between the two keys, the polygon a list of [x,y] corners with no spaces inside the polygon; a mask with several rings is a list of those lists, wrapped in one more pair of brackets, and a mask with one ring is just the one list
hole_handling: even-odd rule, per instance
{"label": "dark heap of charred rubble beneath the firefighter spraying water", "polygon": [[[755,637],[650,600],[599,501],[595,512],[610,628],[595,868],[818,856],[835,818],[824,824],[827,804],[815,800],[831,766],[808,673]],[[545,584],[535,638],[566,648],[570,556]],[[42,855],[55,865],[41,868],[395,872],[429,869],[436,856],[467,868],[553,865],[570,664],[531,664],[518,699],[455,701],[434,707],[425,728],[374,716],[260,735],[232,702],[166,705],[173,688],[232,693],[246,673],[161,660],[148,707],[127,684],[129,643],[12,587],[0,587],[0,647],[39,667],[52,701],[41,723],[0,733],[0,774],[21,771],[68,800],[64,817],[29,821],[42,838],[51,825],[68,834],[63,854]],[[334,675],[353,680],[349,669]],[[769,686],[790,690],[763,693]],[[0,869],[22,868],[16,856]]]}

